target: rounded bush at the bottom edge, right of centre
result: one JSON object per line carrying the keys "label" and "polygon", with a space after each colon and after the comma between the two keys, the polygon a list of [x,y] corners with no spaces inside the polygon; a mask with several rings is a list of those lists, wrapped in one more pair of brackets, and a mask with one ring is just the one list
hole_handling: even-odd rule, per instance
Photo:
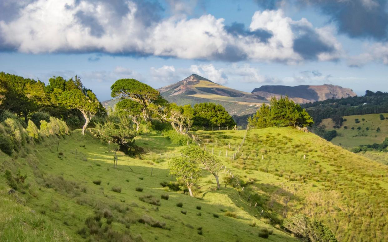
{"label": "rounded bush at the bottom edge, right of centre", "polygon": [[318,220],[310,220],[304,215],[294,215],[284,219],[283,226],[303,239],[312,242],[336,242],[333,232]]}

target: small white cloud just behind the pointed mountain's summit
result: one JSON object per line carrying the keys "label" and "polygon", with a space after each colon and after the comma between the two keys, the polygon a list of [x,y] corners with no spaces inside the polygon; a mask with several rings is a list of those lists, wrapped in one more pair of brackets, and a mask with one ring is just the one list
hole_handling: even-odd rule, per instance
{"label": "small white cloud just behind the pointed mountain's summit", "polygon": [[225,74],[225,70],[222,68],[217,69],[213,64],[191,65],[190,71],[218,84],[228,83],[228,77]]}

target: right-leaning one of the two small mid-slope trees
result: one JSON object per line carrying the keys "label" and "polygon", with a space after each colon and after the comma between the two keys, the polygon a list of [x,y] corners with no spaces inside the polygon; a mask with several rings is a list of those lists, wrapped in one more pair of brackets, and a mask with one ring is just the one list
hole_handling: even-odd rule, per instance
{"label": "right-leaning one of the two small mid-slope trees", "polygon": [[196,161],[201,169],[208,170],[216,179],[217,189],[220,189],[220,182],[218,181],[218,173],[223,168],[220,160],[198,146],[188,146],[182,149],[182,155],[188,157],[192,161]]}

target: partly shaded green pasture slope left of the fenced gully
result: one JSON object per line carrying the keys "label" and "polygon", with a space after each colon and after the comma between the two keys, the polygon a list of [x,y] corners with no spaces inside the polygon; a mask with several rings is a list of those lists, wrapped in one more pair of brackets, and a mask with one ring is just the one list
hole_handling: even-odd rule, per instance
{"label": "partly shaded green pasture slope left of the fenced gully", "polygon": [[[236,135],[236,141],[239,142],[244,131],[233,132]],[[85,227],[86,218],[104,209],[113,214],[111,230],[106,234],[112,230],[126,233],[128,232],[126,226],[129,226],[133,240],[140,240],[140,235],[145,241],[155,239],[160,241],[177,241],[177,239],[267,241],[259,238],[257,233],[259,228],[270,228],[274,230],[274,235],[270,235],[268,240],[294,241],[294,238],[288,234],[255,218],[253,215],[256,213],[239,201],[238,193],[232,187],[216,191],[214,182],[212,184],[208,182],[210,179],[213,181],[208,173],[203,173],[204,178],[196,191],[197,197],[202,199],[166,191],[159,183],[169,181],[171,178],[168,175],[167,161],[159,160],[160,163],[153,163],[152,157],[144,156],[140,160],[119,156],[118,168],[113,169],[113,154],[106,152],[106,146],[92,137],[83,137],[79,133],[80,131],[76,130],[71,136],[65,138],[51,137],[42,144],[30,145],[24,157],[19,154],[17,159],[0,154],[1,170],[8,168],[16,173],[20,169],[22,174],[27,174],[24,188],[21,190],[26,194],[17,192],[15,196],[18,199],[6,194],[9,187],[4,185],[3,176],[0,178],[2,196],[0,201],[2,208],[7,208],[1,209],[0,213],[0,228],[2,228],[0,241],[15,240],[12,237],[15,236],[13,233],[15,228],[1,226],[5,224],[17,224],[20,227],[16,230],[17,234],[23,234],[21,232],[23,230],[26,238],[31,241],[51,241],[53,238],[84,241],[86,239],[75,232]],[[57,142],[59,142],[58,151],[56,151]],[[179,149],[182,148],[170,144],[167,139],[156,133],[140,136],[136,142],[152,151],[178,154]],[[96,156],[96,163],[94,163],[94,156]],[[222,175],[221,178],[224,176]],[[101,185],[93,184],[93,180],[101,180]],[[111,191],[113,186],[121,187],[121,193]],[[142,187],[144,190],[136,192],[135,187]],[[156,206],[139,201],[139,196],[145,194],[152,194],[158,199],[161,194],[169,194],[170,199],[167,201],[161,199],[161,206],[158,211],[155,211]],[[175,205],[178,202],[184,204],[183,208]],[[196,215],[197,205],[202,207],[202,216]],[[220,209],[236,213],[237,218],[225,216]],[[182,210],[187,211],[187,215],[183,215]],[[215,218],[213,213],[219,214],[220,218]],[[166,227],[171,230],[154,228],[137,222],[143,215],[165,221]],[[21,219],[23,216],[27,219]],[[10,220],[12,223],[9,222]],[[35,221],[40,222],[36,225]],[[103,228],[109,227],[106,218],[102,218],[101,221]],[[256,227],[249,226],[252,222],[256,222]],[[188,224],[194,228],[186,226]],[[197,234],[197,227],[202,227],[203,235]],[[95,236],[92,235],[92,238],[96,238]],[[114,237],[114,233],[110,233],[110,236],[111,241],[118,238]],[[90,239],[89,232],[84,237]]]}

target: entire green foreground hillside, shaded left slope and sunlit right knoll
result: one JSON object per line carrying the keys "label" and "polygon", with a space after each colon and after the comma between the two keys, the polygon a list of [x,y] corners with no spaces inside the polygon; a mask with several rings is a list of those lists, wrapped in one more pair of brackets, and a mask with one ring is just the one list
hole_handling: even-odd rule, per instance
{"label": "entire green foreground hillside, shaded left slope and sunlit right knoll", "polygon": [[[339,241],[387,239],[386,166],[291,128],[249,130],[236,160],[233,145],[245,130],[195,134],[201,147],[221,151],[229,170],[221,174],[218,191],[214,177],[203,172],[196,198],[161,186],[171,180],[168,158],[120,155],[114,169],[113,153],[80,130],[29,144],[14,157],[2,153],[2,170],[16,176],[20,169],[27,178],[10,195],[0,178],[1,205],[9,208],[1,212],[0,240],[294,241],[282,221],[300,213],[322,221]],[[184,147],[155,131],[138,136],[136,144],[169,157]],[[160,206],[140,201],[147,195]],[[273,234],[260,238],[261,228]]]}

